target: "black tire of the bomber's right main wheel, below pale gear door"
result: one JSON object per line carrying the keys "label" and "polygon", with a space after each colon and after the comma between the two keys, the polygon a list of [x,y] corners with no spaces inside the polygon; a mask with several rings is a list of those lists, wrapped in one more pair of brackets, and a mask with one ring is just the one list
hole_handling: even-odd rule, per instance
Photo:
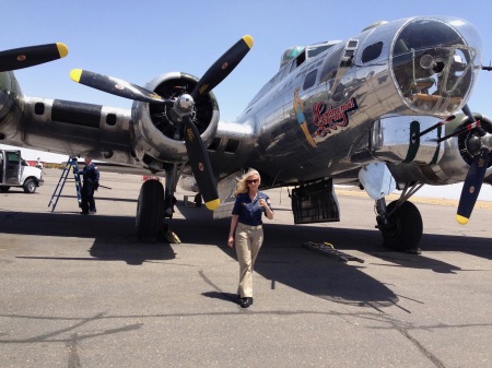
{"label": "black tire of the bomber's right main wheel, below pale gear door", "polygon": [[[388,204],[388,213],[395,209],[396,203],[394,201]],[[417,250],[423,232],[422,216],[419,209],[407,201],[389,217],[389,224],[379,226],[379,229],[386,247],[401,251]]]}

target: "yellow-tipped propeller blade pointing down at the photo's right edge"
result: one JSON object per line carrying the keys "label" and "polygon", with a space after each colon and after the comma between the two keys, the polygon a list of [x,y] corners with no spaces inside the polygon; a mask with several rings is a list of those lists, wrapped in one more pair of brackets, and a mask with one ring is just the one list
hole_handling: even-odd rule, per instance
{"label": "yellow-tipped propeller blade pointing down at the photo's right edge", "polygon": [[468,170],[467,178],[462,185],[461,197],[459,198],[458,212],[456,221],[466,225],[473,211],[475,203],[482,188],[485,177],[487,164],[489,162],[489,150],[482,149],[480,154],[475,156]]}

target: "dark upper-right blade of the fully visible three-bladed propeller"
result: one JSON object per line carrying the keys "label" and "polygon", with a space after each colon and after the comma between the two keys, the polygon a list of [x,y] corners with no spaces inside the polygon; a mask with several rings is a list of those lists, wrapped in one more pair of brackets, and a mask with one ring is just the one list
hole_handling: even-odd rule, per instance
{"label": "dark upper-right blade of the fully visible three-bladed propeller", "polygon": [[191,96],[197,99],[218,86],[238,66],[251,47],[251,36],[246,35],[241,38],[209,68],[195,86]]}

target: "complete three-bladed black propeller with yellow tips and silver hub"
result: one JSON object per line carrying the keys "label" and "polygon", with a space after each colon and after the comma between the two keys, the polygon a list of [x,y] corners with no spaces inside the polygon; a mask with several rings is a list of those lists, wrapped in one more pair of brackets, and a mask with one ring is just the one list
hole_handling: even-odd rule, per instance
{"label": "complete three-bladed black propeller with yellow tips and silver hub", "polygon": [[191,114],[195,108],[195,100],[219,85],[237,67],[251,47],[251,36],[246,35],[241,38],[207,70],[190,94],[184,93],[176,99],[166,99],[153,91],[145,90],[124,80],[86,70],[74,69],[70,72],[70,78],[78,83],[120,97],[143,103],[173,106],[173,109],[185,122],[184,139],[186,151],[200,193],[203,197],[207,207],[209,210],[215,210],[220,205],[215,178],[200,133],[191,119]]}

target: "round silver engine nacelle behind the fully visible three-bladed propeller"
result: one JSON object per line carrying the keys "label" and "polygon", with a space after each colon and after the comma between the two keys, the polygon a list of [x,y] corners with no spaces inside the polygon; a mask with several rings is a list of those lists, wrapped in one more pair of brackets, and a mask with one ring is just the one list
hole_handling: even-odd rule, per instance
{"label": "round silver engine nacelle behind the fully visible three-bladed propeller", "polygon": [[[157,76],[145,88],[164,98],[174,99],[184,93],[191,93],[197,83],[198,79],[194,75],[173,72]],[[188,159],[183,139],[185,123],[173,107],[134,102],[131,117],[132,149],[138,159],[156,170],[162,169],[166,163],[184,163]],[[195,100],[191,118],[204,146],[208,146],[215,136],[219,124],[219,105],[212,92]]]}

